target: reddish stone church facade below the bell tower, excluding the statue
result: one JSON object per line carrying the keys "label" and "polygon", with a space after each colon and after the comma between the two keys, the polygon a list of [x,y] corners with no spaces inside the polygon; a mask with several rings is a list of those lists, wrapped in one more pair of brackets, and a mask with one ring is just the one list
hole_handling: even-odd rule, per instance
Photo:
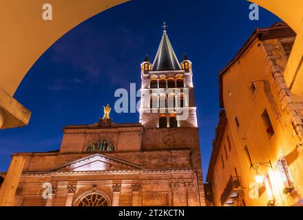
{"label": "reddish stone church facade below the bell tower, excluding the statue", "polygon": [[[68,126],[60,151],[17,153],[15,156],[25,158],[25,165],[14,205],[76,206],[93,188],[92,193],[100,193],[112,206],[204,204],[198,129],[144,131],[140,124],[132,124],[126,131],[132,133],[132,139],[125,137],[127,145],[120,140],[125,128],[115,126]],[[189,135],[191,138],[186,138]],[[110,138],[115,150],[87,152],[87,146],[96,138]],[[45,183],[52,186],[49,199],[43,199]]]}

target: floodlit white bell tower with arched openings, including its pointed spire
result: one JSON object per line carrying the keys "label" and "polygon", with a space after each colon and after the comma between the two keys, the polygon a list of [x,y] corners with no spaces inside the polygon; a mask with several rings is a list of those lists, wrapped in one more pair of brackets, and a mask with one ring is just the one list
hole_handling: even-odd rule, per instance
{"label": "floodlit white bell tower with arched openings, including its pointed spire", "polygon": [[163,25],[163,36],[151,65],[141,64],[140,123],[145,128],[198,127],[191,61],[179,63]]}

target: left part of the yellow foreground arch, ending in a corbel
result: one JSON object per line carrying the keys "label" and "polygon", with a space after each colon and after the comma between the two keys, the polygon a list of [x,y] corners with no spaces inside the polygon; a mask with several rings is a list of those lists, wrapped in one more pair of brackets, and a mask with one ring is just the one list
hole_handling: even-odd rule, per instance
{"label": "left part of the yellow foreground arch, ending in a corbel", "polygon": [[[90,0],[88,3],[86,0],[77,0],[70,3],[70,1],[53,0],[51,4],[56,14],[56,22],[44,21],[41,18],[43,13],[41,1],[6,1],[6,7],[0,8],[1,30],[5,30],[4,41],[0,42],[0,53],[2,53],[0,98],[6,100],[7,103],[1,103],[0,106],[6,110],[2,117],[5,120],[1,120],[3,123],[0,129],[28,125],[30,111],[13,96],[39,57],[72,28],[126,1],[128,0]],[[28,14],[28,12],[31,13]],[[66,16],[68,19],[65,19]],[[11,36],[14,36],[14,41],[6,43],[6,39],[10,39]],[[32,37],[24,38],[24,36]],[[18,63],[18,65],[12,65],[12,63]]]}

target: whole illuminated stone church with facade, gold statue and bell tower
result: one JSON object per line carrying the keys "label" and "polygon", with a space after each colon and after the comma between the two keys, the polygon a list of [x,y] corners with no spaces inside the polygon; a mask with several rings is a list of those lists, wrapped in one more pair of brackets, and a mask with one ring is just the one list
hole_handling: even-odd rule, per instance
{"label": "whole illuminated stone church with facade, gold statue and bell tower", "polygon": [[179,63],[165,27],[141,64],[140,122],[113,122],[107,105],[95,124],[65,126],[58,151],[15,153],[1,173],[9,205],[205,206],[191,61]]}

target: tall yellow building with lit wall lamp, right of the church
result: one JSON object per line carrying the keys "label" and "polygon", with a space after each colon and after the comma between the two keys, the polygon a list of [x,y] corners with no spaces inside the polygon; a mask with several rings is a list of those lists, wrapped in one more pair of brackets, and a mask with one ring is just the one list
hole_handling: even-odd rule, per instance
{"label": "tall yellow building with lit wall lamp, right of the church", "polygon": [[255,30],[220,72],[209,204],[302,204],[303,97],[284,80],[295,36],[285,23]]}

